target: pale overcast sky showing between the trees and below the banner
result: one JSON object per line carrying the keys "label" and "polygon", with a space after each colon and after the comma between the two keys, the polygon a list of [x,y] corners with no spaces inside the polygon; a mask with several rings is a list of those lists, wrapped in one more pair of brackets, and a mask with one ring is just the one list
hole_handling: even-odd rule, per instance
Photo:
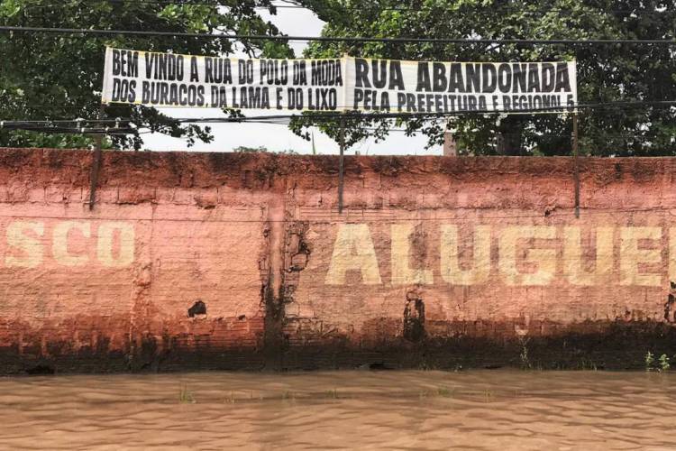
{"label": "pale overcast sky showing between the trees and below the banner", "polygon": [[[261,11],[260,15],[275,23],[282,32],[296,36],[318,36],[323,22],[315,14],[304,9],[279,8],[278,14],[270,15]],[[305,48],[305,42],[293,43],[292,46],[299,57]],[[224,113],[216,108],[160,108],[160,111],[175,117],[218,117]],[[269,111],[248,110],[247,116],[269,115]],[[277,124],[211,124],[215,137],[213,143],[196,143],[187,149],[185,140],[170,138],[160,133],[144,135],[145,147],[153,151],[198,151],[198,152],[230,152],[238,146],[264,146],[270,151],[280,152],[293,150],[298,153],[311,153],[312,144],[299,138],[288,130],[286,125]],[[425,150],[426,138],[422,134],[407,137],[401,132],[392,132],[388,139],[381,143],[366,140],[353,146],[348,154],[359,151],[362,155],[417,154],[441,155],[441,146]],[[337,153],[337,144],[315,129],[315,146],[319,153]]]}

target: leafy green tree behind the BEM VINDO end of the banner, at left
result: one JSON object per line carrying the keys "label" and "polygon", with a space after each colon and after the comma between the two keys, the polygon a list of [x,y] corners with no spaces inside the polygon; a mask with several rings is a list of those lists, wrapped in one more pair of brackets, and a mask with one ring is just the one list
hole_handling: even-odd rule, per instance
{"label": "leafy green tree behind the BEM VINDO end of the banner, at left", "polygon": [[[92,28],[160,32],[229,32],[277,35],[279,30],[257,14],[271,0],[2,0],[0,24],[32,27]],[[197,55],[232,53],[228,40],[178,37],[71,36],[40,32],[0,33],[0,119],[96,119],[103,83],[105,46]],[[292,56],[286,44],[241,41],[251,56]],[[184,126],[151,107],[106,106],[105,117],[132,118],[135,127],[196,140],[213,138],[210,130]],[[82,147],[92,142],[81,134],[50,134],[0,129],[0,146]],[[142,147],[138,130],[115,135],[118,148]]]}

